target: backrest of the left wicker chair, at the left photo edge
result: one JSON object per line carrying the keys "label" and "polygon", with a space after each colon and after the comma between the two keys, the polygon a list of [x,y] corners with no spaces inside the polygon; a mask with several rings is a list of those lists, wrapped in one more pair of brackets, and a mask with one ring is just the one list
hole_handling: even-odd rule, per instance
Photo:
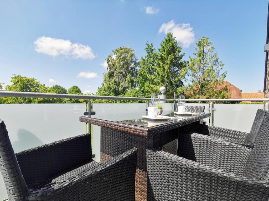
{"label": "backrest of the left wicker chair, at the left photo edge", "polygon": [[3,120],[0,120],[0,172],[9,200],[24,200],[29,194],[29,189],[22,176]]}

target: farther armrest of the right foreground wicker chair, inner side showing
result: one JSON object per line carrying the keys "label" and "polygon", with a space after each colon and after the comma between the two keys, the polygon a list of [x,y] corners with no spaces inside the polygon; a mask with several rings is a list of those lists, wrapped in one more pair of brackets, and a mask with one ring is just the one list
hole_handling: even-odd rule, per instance
{"label": "farther armrest of the right foreground wicker chair, inner side showing", "polygon": [[197,133],[193,133],[191,139],[197,162],[235,174],[244,171],[249,148]]}

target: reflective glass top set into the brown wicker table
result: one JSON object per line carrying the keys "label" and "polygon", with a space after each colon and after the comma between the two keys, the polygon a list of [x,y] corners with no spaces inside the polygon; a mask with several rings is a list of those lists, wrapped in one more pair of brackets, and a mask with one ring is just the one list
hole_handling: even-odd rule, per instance
{"label": "reflective glass top set into the brown wicker table", "polygon": [[130,125],[135,125],[135,126],[144,126],[144,127],[152,127],[152,126],[158,126],[158,125],[162,125],[162,124],[168,124],[171,122],[175,122],[175,121],[181,121],[184,119],[188,119],[188,118],[192,118],[192,117],[196,117],[196,116],[200,116],[201,114],[190,114],[190,115],[179,115],[179,114],[174,114],[174,112],[170,113],[170,114],[166,114],[165,116],[168,117],[173,117],[171,119],[167,119],[167,120],[150,120],[147,118],[137,118],[137,119],[132,119],[132,120],[122,120],[122,121],[116,121],[119,123],[123,123],[123,124],[130,124]]}

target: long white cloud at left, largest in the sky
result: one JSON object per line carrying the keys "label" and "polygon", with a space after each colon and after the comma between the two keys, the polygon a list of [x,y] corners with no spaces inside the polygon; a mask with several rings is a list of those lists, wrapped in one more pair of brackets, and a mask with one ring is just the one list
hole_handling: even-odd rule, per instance
{"label": "long white cloud at left, largest in the sky", "polygon": [[71,43],[70,40],[42,36],[37,38],[34,44],[35,50],[38,53],[48,54],[53,57],[58,55],[75,59],[93,59],[96,57],[89,46],[80,43]]}

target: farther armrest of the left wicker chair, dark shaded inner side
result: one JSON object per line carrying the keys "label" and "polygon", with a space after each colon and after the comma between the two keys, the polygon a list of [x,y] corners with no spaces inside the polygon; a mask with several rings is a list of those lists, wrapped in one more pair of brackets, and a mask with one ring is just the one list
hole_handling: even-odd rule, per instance
{"label": "farther armrest of the left wicker chair, dark shaded inner side", "polygon": [[51,176],[91,159],[91,135],[87,133],[22,151],[16,158],[28,188],[42,188],[51,182]]}

